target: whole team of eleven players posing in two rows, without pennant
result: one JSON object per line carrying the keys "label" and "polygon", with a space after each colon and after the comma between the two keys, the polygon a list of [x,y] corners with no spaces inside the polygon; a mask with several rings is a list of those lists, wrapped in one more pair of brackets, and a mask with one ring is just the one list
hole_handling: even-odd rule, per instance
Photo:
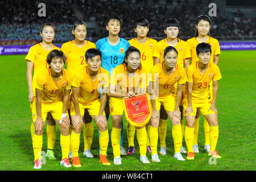
{"label": "whole team of eleven players posing in two rows, without pennant", "polygon": [[[205,117],[204,149],[209,152],[209,155],[220,158],[215,150],[218,139],[215,104],[218,80],[221,78],[217,67],[220,46],[218,40],[209,36],[210,24],[211,21],[207,15],[198,16],[195,23],[196,36],[184,42],[177,38],[179,22],[176,19],[167,19],[164,23],[164,33],[167,38],[157,42],[147,38],[148,20],[139,18],[134,23],[137,38],[127,41],[119,38],[121,19],[114,15],[106,21],[109,36],[94,44],[85,40],[86,23],[77,20],[72,28],[75,39],[64,43],[61,49],[52,44],[55,36],[54,26],[51,23],[44,24],[40,31],[43,41],[32,46],[25,57],[28,100],[31,103],[33,119],[31,137],[35,157],[34,168],[42,167],[40,154],[46,120],[46,156],[49,159],[55,159],[53,147],[56,139],[56,123],[61,131],[61,165],[71,167],[68,158],[72,158],[74,167],[81,166],[79,145],[83,125],[83,154],[87,158],[93,158],[90,152],[94,133],[93,119],[98,127],[100,162],[110,165],[106,159],[109,142],[109,114],[112,115],[113,121],[111,140],[114,164],[122,163],[121,155],[134,154],[136,130],[141,161],[150,163],[146,157],[148,151],[151,152],[152,162],[160,162],[157,152],[158,138],[160,140],[159,153],[166,155],[168,117],[172,122],[174,158],[185,160],[181,155],[181,153],[187,153],[182,146],[185,136],[188,149],[187,159],[194,159],[194,153],[199,152],[197,135],[200,111]],[[191,65],[189,65],[190,59]],[[64,69],[66,60],[68,71]],[[34,75],[32,76],[33,68]],[[127,82],[117,77],[118,73],[125,74]],[[147,81],[148,86],[148,84],[143,84],[142,77],[137,82],[134,81],[134,77],[142,73],[152,73],[152,75],[158,73],[159,76],[153,76],[150,81]],[[152,115],[148,125],[135,128],[127,122],[129,143],[127,152],[122,147],[122,98],[134,97],[138,93],[138,88],[139,93],[148,92],[151,96],[156,95],[153,86],[155,82],[159,87],[158,97],[151,99]],[[68,114],[66,114],[67,110]],[[184,113],[186,117],[186,127],[181,113]],[[72,125],[69,125],[68,115],[71,116]]]}

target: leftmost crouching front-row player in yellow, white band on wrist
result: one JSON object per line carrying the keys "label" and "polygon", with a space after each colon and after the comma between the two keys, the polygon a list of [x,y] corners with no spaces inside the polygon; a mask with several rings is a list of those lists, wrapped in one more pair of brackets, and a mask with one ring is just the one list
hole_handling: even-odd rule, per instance
{"label": "leftmost crouching front-row player in yellow, white band on wrist", "polygon": [[[34,148],[35,169],[42,168],[40,155],[43,146],[43,131],[47,113],[51,113],[52,118],[60,128],[60,146],[62,159],[60,164],[64,167],[71,167],[68,161],[70,145],[69,118],[67,113],[69,104],[69,94],[71,92],[72,75],[64,69],[65,55],[57,49],[52,50],[47,55],[49,68],[44,68],[36,77],[36,115],[33,118],[35,134],[32,138]],[[64,94],[63,94],[64,90]]]}

